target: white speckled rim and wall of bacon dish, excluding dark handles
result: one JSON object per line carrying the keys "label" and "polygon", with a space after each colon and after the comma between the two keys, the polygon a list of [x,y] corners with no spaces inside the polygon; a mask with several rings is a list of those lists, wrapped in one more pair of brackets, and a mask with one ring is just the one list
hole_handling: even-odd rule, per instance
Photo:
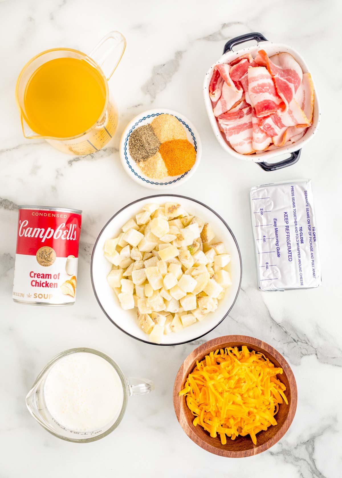
{"label": "white speckled rim and wall of bacon dish, excluding dark handles", "polygon": [[213,106],[211,99],[209,98],[209,83],[211,76],[213,74],[214,67],[216,65],[220,65],[222,63],[230,63],[232,60],[237,58],[238,56],[241,56],[246,53],[251,53],[253,58],[256,56],[259,50],[265,50],[265,52],[269,55],[272,56],[277,53],[289,53],[291,54],[298,64],[301,66],[303,73],[309,73],[309,69],[303,58],[300,56],[299,53],[296,52],[293,48],[291,48],[288,45],[285,45],[283,43],[272,43],[272,42],[259,42],[256,45],[249,46],[247,48],[243,48],[242,50],[238,51],[228,51],[227,53],[223,54],[221,58],[215,62],[212,66],[210,66],[209,70],[205,74],[204,78],[204,83],[203,83],[203,96],[204,96],[204,102],[205,102],[205,108],[206,112],[209,117],[210,125],[214,131],[214,134],[216,136],[217,141],[219,144],[222,146],[222,148],[227,151],[231,156],[234,156],[235,158],[238,159],[243,159],[245,161],[253,161],[255,163],[263,162],[263,161],[269,161],[271,158],[275,158],[276,156],[280,156],[281,154],[285,153],[290,153],[294,151],[298,151],[301,149],[316,133],[318,127],[319,127],[319,121],[320,121],[320,109],[319,109],[319,99],[317,96],[317,90],[314,84],[314,80],[312,78],[313,84],[314,84],[314,90],[315,90],[315,103],[314,103],[314,112],[313,112],[313,122],[312,125],[308,128],[307,132],[301,138],[299,141],[296,141],[293,145],[291,146],[282,146],[279,147],[276,150],[273,151],[263,151],[259,152],[258,154],[240,154],[239,152],[236,152],[229,144],[227,141],[224,133],[222,133],[217,124],[217,120],[215,118],[214,112],[213,112]]}

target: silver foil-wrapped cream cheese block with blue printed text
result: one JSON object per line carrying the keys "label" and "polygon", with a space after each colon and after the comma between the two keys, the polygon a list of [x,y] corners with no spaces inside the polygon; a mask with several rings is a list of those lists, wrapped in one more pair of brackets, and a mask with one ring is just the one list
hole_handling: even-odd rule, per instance
{"label": "silver foil-wrapped cream cheese block with blue printed text", "polygon": [[254,186],[250,202],[260,290],[311,289],[321,285],[311,181]]}

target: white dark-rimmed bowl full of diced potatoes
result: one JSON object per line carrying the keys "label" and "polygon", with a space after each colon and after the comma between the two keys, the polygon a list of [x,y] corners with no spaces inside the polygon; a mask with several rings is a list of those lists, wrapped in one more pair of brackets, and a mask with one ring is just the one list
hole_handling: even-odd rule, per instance
{"label": "white dark-rimmed bowl full of diced potatoes", "polygon": [[210,207],[179,195],[128,204],[103,227],[91,283],[104,314],[131,337],[178,345],[229,313],[242,276],[237,241]]}

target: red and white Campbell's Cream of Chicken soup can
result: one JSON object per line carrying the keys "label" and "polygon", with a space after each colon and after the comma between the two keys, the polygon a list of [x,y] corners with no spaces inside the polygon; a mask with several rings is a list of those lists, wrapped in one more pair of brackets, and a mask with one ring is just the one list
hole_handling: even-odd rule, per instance
{"label": "red and white Campbell's Cream of Chicken soup can", "polygon": [[19,206],[13,300],[21,304],[72,305],[82,211]]}

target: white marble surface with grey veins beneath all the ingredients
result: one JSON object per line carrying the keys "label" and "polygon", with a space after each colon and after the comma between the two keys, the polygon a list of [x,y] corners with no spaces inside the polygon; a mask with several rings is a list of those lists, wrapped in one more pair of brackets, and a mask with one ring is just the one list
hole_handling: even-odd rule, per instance
{"label": "white marble surface with grey veins beneath all the ingredients", "polygon": [[[339,478],[342,432],[341,306],[341,6],[323,2],[246,0],[132,1],[8,0],[0,2],[0,476],[161,476],[171,478]],[[34,54],[56,46],[89,52],[110,30],[127,38],[110,81],[120,109],[112,143],[73,158],[44,141],[24,140],[14,100],[17,75]],[[299,163],[274,173],[235,160],[220,148],[206,117],[202,81],[228,38],[260,31],[288,43],[306,59],[322,108],[317,135]],[[179,110],[203,143],[196,174],[173,190],[202,200],[221,214],[239,242],[242,288],[231,314],[204,341],[247,334],[272,344],[289,361],[298,408],[285,437],[262,455],[223,459],[183,433],[173,412],[173,380],[196,343],[159,348],[117,330],[91,290],[92,245],[103,224],[128,202],[150,191],[124,172],[120,134],[137,113]],[[323,286],[311,291],[261,293],[256,288],[247,192],[252,185],[310,177],[319,225]],[[72,308],[14,304],[11,299],[17,204],[83,209],[79,287]],[[58,440],[28,413],[24,398],[39,370],[56,353],[88,346],[111,355],[127,375],[146,376],[156,390],[133,397],[120,427],[103,440],[75,445]]]}

